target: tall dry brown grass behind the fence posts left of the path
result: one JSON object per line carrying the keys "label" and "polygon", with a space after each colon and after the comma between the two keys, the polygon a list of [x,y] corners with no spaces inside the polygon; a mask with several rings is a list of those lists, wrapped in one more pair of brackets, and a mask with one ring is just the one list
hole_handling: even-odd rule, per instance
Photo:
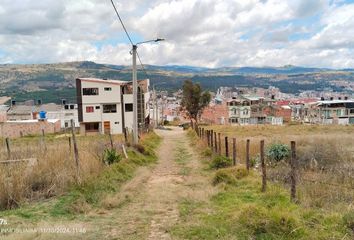
{"label": "tall dry brown grass behind the fence posts left of the path", "polygon": [[[28,162],[0,164],[0,210],[15,208],[29,202],[65,192],[76,181],[73,148],[69,135],[49,135],[12,139],[10,159],[35,158]],[[82,181],[97,176],[104,168],[102,153],[110,147],[107,136],[78,137],[80,178]],[[8,160],[5,141],[0,148],[0,161]],[[121,142],[120,136],[114,142]]]}

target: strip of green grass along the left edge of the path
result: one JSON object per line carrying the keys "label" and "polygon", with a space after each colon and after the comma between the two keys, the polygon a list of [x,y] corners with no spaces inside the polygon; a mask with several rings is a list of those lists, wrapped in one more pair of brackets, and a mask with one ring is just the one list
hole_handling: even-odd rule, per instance
{"label": "strip of green grass along the left edge of the path", "polygon": [[101,200],[108,194],[118,192],[122,184],[134,176],[139,166],[155,163],[157,161],[155,150],[160,141],[160,137],[150,133],[141,141],[147,150],[146,154],[129,149],[128,159],[110,165],[98,177],[73,185],[66,194],[47,202],[23,205],[1,214],[33,221],[48,217],[69,219],[80,217],[80,214],[100,207]]}

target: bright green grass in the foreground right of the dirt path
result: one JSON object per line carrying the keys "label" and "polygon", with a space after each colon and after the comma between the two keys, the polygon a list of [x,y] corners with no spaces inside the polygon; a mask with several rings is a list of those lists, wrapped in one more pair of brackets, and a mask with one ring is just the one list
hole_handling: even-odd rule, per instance
{"label": "bright green grass in the foreground right of the dirt path", "polygon": [[[195,141],[193,136],[192,140]],[[211,176],[217,173],[205,171]],[[217,187],[218,193],[206,202],[184,199],[179,203],[180,220],[171,229],[174,238],[349,240],[354,237],[351,229],[354,215],[305,208],[301,203],[291,202],[289,191],[273,183],[268,183],[267,191],[262,193],[257,172],[221,182]]]}

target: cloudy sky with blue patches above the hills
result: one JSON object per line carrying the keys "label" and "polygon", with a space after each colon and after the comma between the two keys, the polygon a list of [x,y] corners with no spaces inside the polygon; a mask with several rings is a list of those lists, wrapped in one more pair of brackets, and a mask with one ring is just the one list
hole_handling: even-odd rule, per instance
{"label": "cloudy sky with blue patches above the hills", "polygon": [[[354,68],[354,0],[114,0],[144,64]],[[110,0],[0,0],[0,63],[130,65]]]}

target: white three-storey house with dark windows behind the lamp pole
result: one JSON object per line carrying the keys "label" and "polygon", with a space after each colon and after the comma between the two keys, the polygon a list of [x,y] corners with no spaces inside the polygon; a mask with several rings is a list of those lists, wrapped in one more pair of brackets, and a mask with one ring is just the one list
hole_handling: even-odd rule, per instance
{"label": "white three-storey house with dark windows behind the lamp pole", "polygon": [[[149,124],[149,80],[138,81],[139,128]],[[76,79],[81,134],[121,134],[133,127],[132,82],[96,78]]]}

